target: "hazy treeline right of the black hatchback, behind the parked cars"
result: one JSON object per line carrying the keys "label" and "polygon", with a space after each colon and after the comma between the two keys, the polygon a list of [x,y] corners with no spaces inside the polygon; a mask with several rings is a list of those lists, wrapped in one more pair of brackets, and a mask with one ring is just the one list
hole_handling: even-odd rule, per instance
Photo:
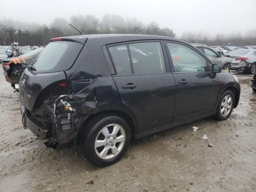
{"label": "hazy treeline right of the black hatchback, behind the parked cars", "polygon": [[202,43],[208,46],[246,46],[256,45],[256,28],[249,30],[246,34],[242,35],[241,32],[231,33],[227,35],[216,34],[213,38],[201,33],[184,33],[181,39],[190,43]]}

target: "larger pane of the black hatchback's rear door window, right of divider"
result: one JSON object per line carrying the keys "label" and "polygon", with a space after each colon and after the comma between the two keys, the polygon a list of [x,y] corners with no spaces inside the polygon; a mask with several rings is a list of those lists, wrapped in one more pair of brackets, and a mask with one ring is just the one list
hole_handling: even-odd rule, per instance
{"label": "larger pane of the black hatchback's rear door window, right of divider", "polygon": [[166,72],[160,42],[129,44],[134,74],[159,74]]}

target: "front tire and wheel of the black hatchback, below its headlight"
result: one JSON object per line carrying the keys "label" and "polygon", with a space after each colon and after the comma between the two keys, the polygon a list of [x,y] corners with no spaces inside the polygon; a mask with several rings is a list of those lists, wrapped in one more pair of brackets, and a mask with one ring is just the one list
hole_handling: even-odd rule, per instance
{"label": "front tire and wheel of the black hatchback, below its headlight", "polygon": [[214,118],[219,121],[226,120],[234,108],[234,94],[232,91],[225,91],[220,97]]}

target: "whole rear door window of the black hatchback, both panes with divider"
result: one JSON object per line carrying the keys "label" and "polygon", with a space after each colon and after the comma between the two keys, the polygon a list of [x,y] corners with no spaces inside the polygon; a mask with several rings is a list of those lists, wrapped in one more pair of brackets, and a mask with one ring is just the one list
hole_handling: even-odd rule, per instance
{"label": "whole rear door window of the black hatchback, both panes with divider", "polygon": [[[109,47],[117,74],[159,74],[166,72],[160,42],[141,42]],[[130,51],[130,56],[129,56]]]}

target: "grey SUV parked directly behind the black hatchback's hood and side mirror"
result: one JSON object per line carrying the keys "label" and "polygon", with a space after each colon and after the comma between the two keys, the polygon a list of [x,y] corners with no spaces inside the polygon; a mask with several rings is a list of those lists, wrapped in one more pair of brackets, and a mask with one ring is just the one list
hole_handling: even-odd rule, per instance
{"label": "grey SUV parked directly behind the black hatchback's hood and side mirror", "polygon": [[222,56],[221,53],[217,53],[212,48],[204,45],[204,44],[192,44],[196,48],[198,48],[201,52],[203,52],[212,62],[215,64],[219,64],[222,66],[222,69],[226,72],[230,72],[230,64],[232,64],[232,60],[229,57]]}

